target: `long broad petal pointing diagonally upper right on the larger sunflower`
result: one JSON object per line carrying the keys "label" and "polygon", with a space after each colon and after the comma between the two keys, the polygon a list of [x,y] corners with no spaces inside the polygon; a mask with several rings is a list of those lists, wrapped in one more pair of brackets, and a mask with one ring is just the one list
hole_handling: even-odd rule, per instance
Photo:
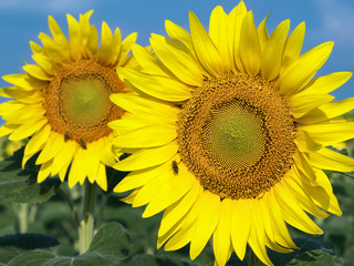
{"label": "long broad petal pointing diagonally upper right on the larger sunflower", "polygon": [[322,43],[284,69],[279,78],[280,93],[291,95],[301,91],[327,60],[332,48],[333,42]]}

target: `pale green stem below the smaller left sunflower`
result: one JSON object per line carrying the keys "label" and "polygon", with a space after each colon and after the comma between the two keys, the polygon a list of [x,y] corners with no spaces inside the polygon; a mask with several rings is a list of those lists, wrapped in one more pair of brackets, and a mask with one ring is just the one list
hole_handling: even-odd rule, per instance
{"label": "pale green stem below the smaller left sunflower", "polygon": [[93,238],[94,208],[96,202],[96,185],[85,182],[82,217],[79,227],[80,254],[87,252]]}

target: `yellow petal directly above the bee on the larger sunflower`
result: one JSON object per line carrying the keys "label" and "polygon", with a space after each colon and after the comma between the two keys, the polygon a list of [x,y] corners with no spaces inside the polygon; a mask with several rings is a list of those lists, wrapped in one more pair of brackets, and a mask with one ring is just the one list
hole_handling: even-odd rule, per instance
{"label": "yellow petal directly above the bee on the larger sunflower", "polygon": [[143,149],[121,161],[114,167],[119,171],[135,171],[152,167],[169,161],[176,155],[178,145],[171,142],[160,147]]}

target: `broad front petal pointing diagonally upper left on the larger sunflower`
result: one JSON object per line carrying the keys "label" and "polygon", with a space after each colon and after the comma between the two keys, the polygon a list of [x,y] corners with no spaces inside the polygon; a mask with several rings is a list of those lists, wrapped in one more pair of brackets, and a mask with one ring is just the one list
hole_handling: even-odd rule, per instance
{"label": "broad front petal pointing diagonally upper left on the larger sunflower", "polygon": [[200,86],[202,73],[184,47],[167,38],[153,34],[150,43],[160,61],[181,81],[189,85]]}

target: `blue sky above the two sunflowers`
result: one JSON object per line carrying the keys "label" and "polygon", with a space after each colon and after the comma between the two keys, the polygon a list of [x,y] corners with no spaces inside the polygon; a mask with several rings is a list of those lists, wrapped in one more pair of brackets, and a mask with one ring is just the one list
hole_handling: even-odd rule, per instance
{"label": "blue sky above the two sunflowers", "polygon": [[[194,11],[208,27],[211,10],[220,4],[229,12],[232,0],[1,0],[0,1],[0,75],[19,73],[24,60],[31,61],[29,41],[38,43],[39,32],[49,32],[48,16],[52,14],[67,31],[66,13],[95,10],[91,22],[101,27],[105,20],[114,29],[119,27],[123,37],[138,32],[137,43],[148,44],[152,32],[166,35],[164,21],[169,19],[189,29],[188,11]],[[319,75],[337,71],[354,71],[354,1],[352,0],[244,0],[253,10],[259,23],[270,11],[268,29],[284,19],[291,19],[291,29],[306,22],[303,52],[325,41],[334,41],[332,55]],[[0,81],[0,86],[9,85]],[[354,79],[333,93],[337,100],[354,96]],[[354,108],[354,106],[353,106]]]}

